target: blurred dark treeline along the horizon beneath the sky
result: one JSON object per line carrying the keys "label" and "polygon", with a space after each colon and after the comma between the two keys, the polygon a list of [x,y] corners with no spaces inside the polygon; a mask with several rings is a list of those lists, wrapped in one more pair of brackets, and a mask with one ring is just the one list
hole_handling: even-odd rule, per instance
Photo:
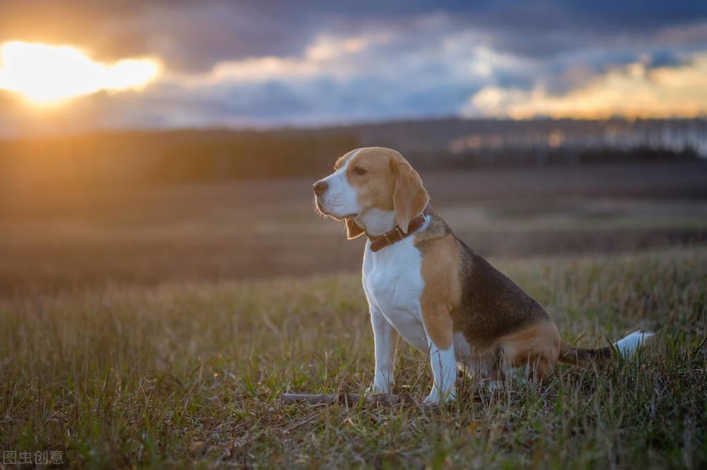
{"label": "blurred dark treeline along the horizon beneath the sky", "polygon": [[312,176],[326,172],[346,151],[372,145],[397,148],[424,169],[684,159],[698,156],[692,142],[705,140],[704,129],[703,120],[438,119],[323,129],[35,136],[0,141],[0,184],[60,188]]}

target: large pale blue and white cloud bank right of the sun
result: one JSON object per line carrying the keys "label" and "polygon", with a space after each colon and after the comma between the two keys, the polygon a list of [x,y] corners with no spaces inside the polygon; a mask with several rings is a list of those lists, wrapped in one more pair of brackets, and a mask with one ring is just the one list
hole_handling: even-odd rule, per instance
{"label": "large pale blue and white cloud bank right of the sun", "polygon": [[176,114],[197,126],[211,124],[199,112],[206,103],[211,117],[225,112],[222,118],[231,122],[264,125],[450,115],[495,74],[527,65],[474,45],[472,34],[438,30],[440,24],[425,21],[414,34],[320,35],[300,56],[223,61],[204,73],[167,74],[161,86],[146,90],[145,102],[181,102]]}

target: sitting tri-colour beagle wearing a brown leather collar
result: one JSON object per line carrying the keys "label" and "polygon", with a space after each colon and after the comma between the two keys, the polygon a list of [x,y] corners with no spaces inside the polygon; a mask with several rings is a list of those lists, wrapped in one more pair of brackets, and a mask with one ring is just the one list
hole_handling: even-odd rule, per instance
{"label": "sitting tri-colour beagle wearing a brown leather collar", "polygon": [[366,234],[363,290],[375,343],[372,393],[390,393],[398,336],[429,355],[434,384],[426,404],[456,397],[456,369],[491,384],[542,379],[559,360],[588,367],[631,353],[650,333],[612,346],[575,348],[530,295],[459,238],[428,204],[422,180],[390,148],[358,148],[314,184],[317,209]]}

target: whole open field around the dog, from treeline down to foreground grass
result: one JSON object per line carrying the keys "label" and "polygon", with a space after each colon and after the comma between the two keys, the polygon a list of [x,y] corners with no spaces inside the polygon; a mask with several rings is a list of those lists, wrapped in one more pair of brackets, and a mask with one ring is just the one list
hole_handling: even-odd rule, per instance
{"label": "whole open field around the dog, from treeline down to foreground grass", "polygon": [[[704,468],[707,165],[422,176],[566,340],[658,339],[539,388],[464,380],[440,411],[284,407],[281,392],[357,392],[373,373],[363,240],[312,213],[317,177],[18,182],[0,198],[0,449],[86,468]],[[430,384],[401,343],[397,391]]]}

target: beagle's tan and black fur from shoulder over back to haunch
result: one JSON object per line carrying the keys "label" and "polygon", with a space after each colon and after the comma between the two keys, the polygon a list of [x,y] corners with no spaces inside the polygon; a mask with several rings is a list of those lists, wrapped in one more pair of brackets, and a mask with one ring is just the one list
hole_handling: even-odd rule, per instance
{"label": "beagle's tan and black fur from shoulder over back to haunch", "polygon": [[[560,336],[551,317],[530,295],[455,237],[438,213],[431,210],[427,230],[416,236],[423,254],[423,312],[426,304],[440,307],[424,318],[437,344],[451,343],[445,323],[462,332],[479,356],[493,356],[513,367],[529,363],[543,375],[559,358]],[[426,302],[426,298],[431,298]],[[442,302],[443,305],[445,302]],[[429,310],[427,310],[429,311]],[[433,334],[434,333],[434,334]],[[500,372],[497,371],[497,372]]]}

